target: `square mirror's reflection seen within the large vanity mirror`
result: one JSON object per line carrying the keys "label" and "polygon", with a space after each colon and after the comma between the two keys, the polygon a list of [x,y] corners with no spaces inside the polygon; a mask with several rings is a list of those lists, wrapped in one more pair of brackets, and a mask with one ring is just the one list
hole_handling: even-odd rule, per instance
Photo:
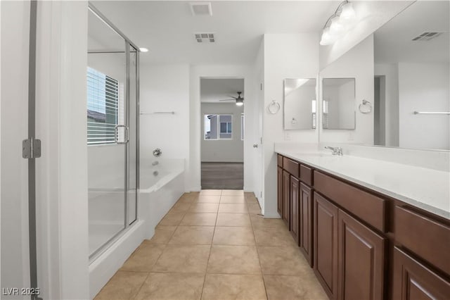
{"label": "square mirror's reflection seen within the large vanity mirror", "polygon": [[323,129],[355,129],[355,79],[323,78]]}

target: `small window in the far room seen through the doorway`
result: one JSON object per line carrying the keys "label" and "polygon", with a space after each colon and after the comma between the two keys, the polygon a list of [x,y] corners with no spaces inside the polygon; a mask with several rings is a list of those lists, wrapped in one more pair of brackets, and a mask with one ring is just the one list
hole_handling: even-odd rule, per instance
{"label": "small window in the far room seen through the doorway", "polygon": [[204,115],[205,139],[232,139],[233,115]]}

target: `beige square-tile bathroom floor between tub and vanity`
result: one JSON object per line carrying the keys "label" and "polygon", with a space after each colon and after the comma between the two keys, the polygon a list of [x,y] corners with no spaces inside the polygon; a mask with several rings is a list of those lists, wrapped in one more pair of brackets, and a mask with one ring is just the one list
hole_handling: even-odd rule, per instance
{"label": "beige square-tile bathroom floor between tub and vanity", "polygon": [[328,299],[280,219],[254,194],[187,193],[95,299]]}

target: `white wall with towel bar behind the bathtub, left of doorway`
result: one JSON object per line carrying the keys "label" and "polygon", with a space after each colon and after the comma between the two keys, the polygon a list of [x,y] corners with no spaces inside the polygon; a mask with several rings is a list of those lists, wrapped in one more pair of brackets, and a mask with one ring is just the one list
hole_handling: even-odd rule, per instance
{"label": "white wall with towel bar behind the bathtub, left of doorway", "polygon": [[[162,158],[182,158],[189,165],[189,65],[141,65],[140,86],[140,109],[146,113],[140,120],[141,161],[151,161],[160,148]],[[162,111],[175,114],[151,114]]]}

